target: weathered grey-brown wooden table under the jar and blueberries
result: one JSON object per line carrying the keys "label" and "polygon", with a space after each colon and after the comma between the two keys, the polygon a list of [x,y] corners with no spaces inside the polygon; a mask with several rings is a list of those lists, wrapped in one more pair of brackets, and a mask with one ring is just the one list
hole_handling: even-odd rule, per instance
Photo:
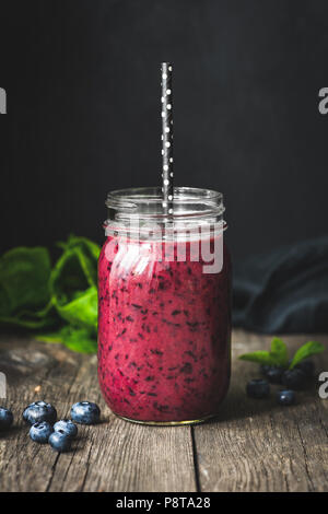
{"label": "weathered grey-brown wooden table under the jar and blueberries", "polygon": [[[286,337],[297,348],[311,336]],[[328,337],[315,337],[328,343]],[[0,491],[327,491],[328,399],[317,382],[298,394],[294,407],[253,400],[245,384],[257,366],[236,360],[268,347],[269,337],[233,334],[233,376],[218,419],[196,427],[154,428],[116,418],[102,399],[96,357],[73,353],[13,336],[0,340],[0,370],[15,425],[0,436]],[[316,359],[328,371],[328,352]],[[274,387],[274,386],[273,386]],[[37,399],[60,417],[79,400],[96,401],[103,421],[81,427],[74,449],[56,454],[33,443],[22,423],[23,408]]]}

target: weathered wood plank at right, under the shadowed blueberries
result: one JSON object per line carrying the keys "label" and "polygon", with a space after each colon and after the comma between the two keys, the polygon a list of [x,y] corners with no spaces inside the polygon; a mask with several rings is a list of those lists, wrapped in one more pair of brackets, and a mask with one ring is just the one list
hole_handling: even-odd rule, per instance
{"label": "weathered wood plank at right, under the shadowed blueberries", "polygon": [[[246,382],[258,376],[255,364],[236,360],[271,338],[236,331],[232,385],[218,419],[192,428],[202,491],[327,491],[327,400],[317,390],[298,393],[297,405],[283,408],[246,397]],[[291,348],[308,336],[284,338]],[[314,339],[314,338],[313,338]],[[327,337],[317,337],[324,343]],[[327,355],[317,358],[328,370]],[[278,386],[272,386],[272,392]]]}

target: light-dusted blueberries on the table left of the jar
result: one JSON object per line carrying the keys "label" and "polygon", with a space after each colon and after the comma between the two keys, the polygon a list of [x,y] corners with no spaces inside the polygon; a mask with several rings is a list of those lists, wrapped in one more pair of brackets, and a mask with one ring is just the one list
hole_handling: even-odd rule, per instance
{"label": "light-dusted blueberries on the table left of the jar", "polygon": [[[95,424],[99,421],[101,410],[92,401],[79,401],[71,408],[71,420],[57,421],[55,407],[46,401],[34,401],[23,412],[23,420],[31,425],[30,437],[35,443],[47,444],[56,452],[69,452],[72,440],[78,435],[80,424]],[[9,409],[0,407],[0,431],[8,430],[13,423]]]}

